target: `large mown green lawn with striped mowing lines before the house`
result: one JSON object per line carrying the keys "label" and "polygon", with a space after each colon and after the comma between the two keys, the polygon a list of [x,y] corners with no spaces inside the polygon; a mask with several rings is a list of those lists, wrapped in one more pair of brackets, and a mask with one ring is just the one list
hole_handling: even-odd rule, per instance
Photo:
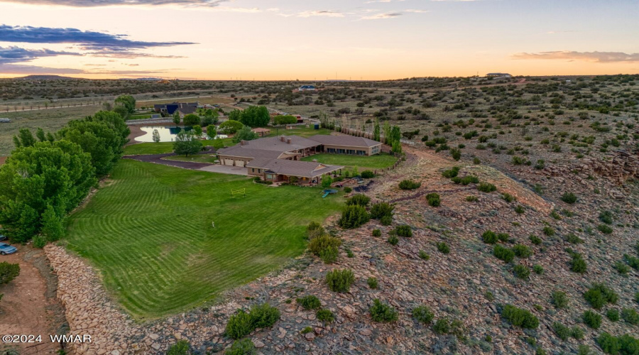
{"label": "large mown green lawn with striped mowing lines before the house", "polygon": [[[246,198],[231,199],[240,188]],[[305,225],[344,203],[320,192],[121,160],[109,184],[69,217],[67,247],[102,271],[133,317],[151,320],[212,301],[300,255]]]}

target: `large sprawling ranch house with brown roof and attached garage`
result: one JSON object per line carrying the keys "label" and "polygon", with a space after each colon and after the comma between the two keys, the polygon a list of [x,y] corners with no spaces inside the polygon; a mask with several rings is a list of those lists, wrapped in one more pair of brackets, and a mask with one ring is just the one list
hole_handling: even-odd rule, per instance
{"label": "large sprawling ranch house with brown roof and attached garage", "polygon": [[241,141],[217,152],[219,163],[247,169],[250,176],[271,182],[314,185],[322,176],[341,173],[343,166],[327,165],[300,158],[317,153],[375,155],[382,143],[354,136],[279,136]]}

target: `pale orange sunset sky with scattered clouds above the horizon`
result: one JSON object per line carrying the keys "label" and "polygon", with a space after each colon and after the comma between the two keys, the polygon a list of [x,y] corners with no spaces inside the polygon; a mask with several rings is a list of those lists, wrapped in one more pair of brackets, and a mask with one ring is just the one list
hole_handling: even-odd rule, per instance
{"label": "pale orange sunset sky with scattered clouds above the horizon", "polygon": [[0,0],[0,13],[0,77],[639,73],[637,0]]}

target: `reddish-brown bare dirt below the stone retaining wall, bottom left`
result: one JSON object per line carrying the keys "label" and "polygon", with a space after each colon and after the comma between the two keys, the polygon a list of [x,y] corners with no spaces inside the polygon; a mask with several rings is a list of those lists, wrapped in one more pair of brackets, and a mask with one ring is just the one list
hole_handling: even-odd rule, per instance
{"label": "reddish-brown bare dirt below the stone retaining wall, bottom left", "polygon": [[31,246],[18,246],[18,252],[2,256],[0,261],[18,263],[20,275],[0,288],[0,335],[41,335],[42,342],[0,344],[0,352],[16,349],[20,354],[55,354],[59,344],[50,342],[49,334],[64,334],[64,310],[55,298],[57,278],[44,252]]}

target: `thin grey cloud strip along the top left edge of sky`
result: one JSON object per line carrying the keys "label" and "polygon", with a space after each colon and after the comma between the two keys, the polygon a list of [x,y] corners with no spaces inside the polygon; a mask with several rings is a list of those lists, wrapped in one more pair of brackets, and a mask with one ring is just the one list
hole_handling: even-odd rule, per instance
{"label": "thin grey cloud strip along the top left edge of sky", "polygon": [[[217,7],[232,0],[29,0],[30,5],[58,5],[72,7],[97,6],[135,6],[135,5],[179,5],[179,6],[208,6]],[[24,4],[24,0],[0,0],[0,2],[17,2]]]}

